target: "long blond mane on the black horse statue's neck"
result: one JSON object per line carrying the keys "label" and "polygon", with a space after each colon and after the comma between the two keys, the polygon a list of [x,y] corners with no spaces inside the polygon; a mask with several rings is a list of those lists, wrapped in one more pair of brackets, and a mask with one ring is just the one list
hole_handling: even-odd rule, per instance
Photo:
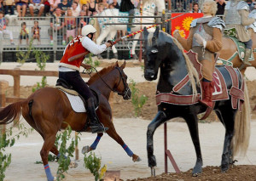
{"label": "long blond mane on the black horse statue's neck", "polygon": [[195,67],[192,64],[192,62],[190,61],[189,56],[184,53],[183,46],[177,41],[177,39],[175,37],[172,37],[171,35],[167,34],[164,31],[161,31],[161,32],[164,33],[166,35],[166,37],[172,38],[172,41],[177,45],[177,48],[179,48],[181,50],[183,57],[186,61],[189,80],[190,80],[190,83],[192,86],[192,92],[193,92],[193,95],[195,96],[197,94],[196,84],[200,85],[198,72],[195,70]]}

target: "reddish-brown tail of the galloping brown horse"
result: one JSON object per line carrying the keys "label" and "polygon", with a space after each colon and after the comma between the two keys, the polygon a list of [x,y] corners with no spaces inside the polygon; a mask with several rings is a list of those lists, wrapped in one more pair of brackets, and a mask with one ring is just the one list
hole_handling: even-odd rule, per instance
{"label": "reddish-brown tail of the galloping brown horse", "polygon": [[[0,110],[0,125],[9,124],[14,122],[15,119],[20,119],[22,110],[26,110],[27,101],[15,102],[11,105],[6,106]],[[27,106],[28,107],[28,106]]]}

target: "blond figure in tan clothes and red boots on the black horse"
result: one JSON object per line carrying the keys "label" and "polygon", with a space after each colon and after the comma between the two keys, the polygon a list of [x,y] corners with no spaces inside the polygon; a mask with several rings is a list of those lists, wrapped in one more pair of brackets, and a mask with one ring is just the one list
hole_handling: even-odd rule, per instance
{"label": "blond figure in tan clothes and red boots on the black horse", "polygon": [[202,64],[202,88],[203,99],[201,104],[212,108],[213,82],[212,74],[215,69],[214,53],[222,48],[222,31],[224,21],[214,17],[217,10],[217,3],[207,0],[203,3],[203,17],[195,19],[190,24],[188,39],[180,36],[178,30],[173,32],[173,37],[183,45],[187,51],[192,49],[198,54],[198,60]]}

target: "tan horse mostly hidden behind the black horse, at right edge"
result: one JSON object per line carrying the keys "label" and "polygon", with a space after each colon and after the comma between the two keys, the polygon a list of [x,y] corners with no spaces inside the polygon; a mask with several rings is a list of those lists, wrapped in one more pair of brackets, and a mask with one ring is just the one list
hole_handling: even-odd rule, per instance
{"label": "tan horse mostly hidden behind the black horse, at right edge", "polygon": [[[252,40],[253,40],[253,50],[256,48],[256,33],[253,32],[252,28],[248,29]],[[236,44],[235,42],[233,42],[230,38],[226,38],[223,37],[222,38],[222,49],[218,52],[219,54],[219,58],[220,59],[230,59],[232,57],[233,54],[236,53],[237,48],[236,48]],[[253,56],[254,56],[254,60],[250,61],[250,63],[252,64],[253,67],[256,68],[256,54],[253,51]],[[246,71],[247,66],[243,65],[241,59],[239,58],[238,54],[236,55],[236,57],[234,57],[234,59],[231,60],[231,62],[233,63],[234,67],[238,67],[241,71],[241,73],[244,75],[244,71]]]}

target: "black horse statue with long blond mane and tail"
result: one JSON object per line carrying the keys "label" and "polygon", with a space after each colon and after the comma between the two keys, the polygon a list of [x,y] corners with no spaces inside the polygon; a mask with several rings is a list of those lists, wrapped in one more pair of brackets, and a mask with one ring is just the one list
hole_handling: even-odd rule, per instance
{"label": "black horse statue with long blond mane and tail", "polygon": [[[187,122],[189,133],[195,146],[197,159],[192,174],[193,176],[196,176],[198,173],[202,172],[203,165],[198,135],[197,115],[207,110],[204,105],[198,103],[201,92],[198,73],[195,71],[195,67],[192,65],[187,54],[183,53],[183,48],[174,37],[163,31],[159,31],[159,28],[157,28],[154,33],[148,33],[147,29],[144,29],[144,38],[143,57],[145,78],[148,81],[155,80],[160,68],[160,77],[156,93],[158,95],[161,93],[172,93],[172,96],[177,99],[177,102],[183,103],[176,104],[162,101],[158,105],[158,113],[154,117],[154,120],[148,125],[148,167],[151,167],[151,171],[153,171],[152,169],[156,166],[153,144],[155,129],[162,123],[174,117],[182,117],[185,122]],[[224,124],[226,129],[224,150],[221,161],[222,172],[226,172],[229,169],[230,164],[234,162],[233,155],[237,153],[244,154],[247,151],[250,130],[247,88],[243,82],[240,71],[233,68],[231,69],[235,72],[239,87],[241,88],[241,85],[244,87],[244,92],[241,91],[244,99],[238,100],[238,102],[243,102],[241,105],[241,112],[237,111],[238,106],[236,109],[233,108],[234,106],[232,107],[232,99],[234,99],[231,96],[232,93],[230,93],[233,81],[231,78],[232,76],[230,76],[225,66],[219,66],[218,71],[224,75],[227,90],[227,99],[216,101],[213,108],[218,119]],[[175,92],[174,89],[176,88],[177,83],[184,80],[186,76],[189,77],[188,83],[183,85],[183,88],[180,88]],[[193,94],[195,96],[192,99],[192,104],[185,104],[183,98],[187,95]]]}

